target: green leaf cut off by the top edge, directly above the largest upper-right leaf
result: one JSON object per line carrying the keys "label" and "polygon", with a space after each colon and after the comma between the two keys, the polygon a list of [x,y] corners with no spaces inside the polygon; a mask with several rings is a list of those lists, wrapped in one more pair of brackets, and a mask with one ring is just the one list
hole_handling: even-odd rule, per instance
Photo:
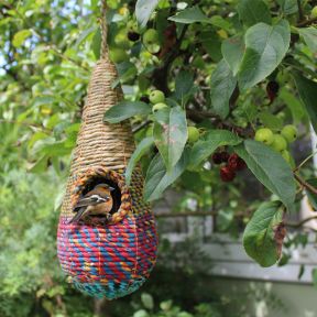
{"label": "green leaf cut off by the top edge, directly above the largest upper-right leaf", "polygon": [[262,0],[241,0],[238,4],[239,17],[247,26],[259,22],[271,24],[272,18],[266,3]]}

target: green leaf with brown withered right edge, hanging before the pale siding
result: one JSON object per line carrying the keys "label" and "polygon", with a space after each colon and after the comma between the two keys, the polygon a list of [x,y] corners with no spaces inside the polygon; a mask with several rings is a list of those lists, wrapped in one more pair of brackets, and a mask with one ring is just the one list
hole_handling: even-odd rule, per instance
{"label": "green leaf with brown withered right edge, hanging before the pale siding", "polygon": [[262,204],[243,233],[243,247],[261,266],[274,265],[281,258],[285,228],[280,201]]}

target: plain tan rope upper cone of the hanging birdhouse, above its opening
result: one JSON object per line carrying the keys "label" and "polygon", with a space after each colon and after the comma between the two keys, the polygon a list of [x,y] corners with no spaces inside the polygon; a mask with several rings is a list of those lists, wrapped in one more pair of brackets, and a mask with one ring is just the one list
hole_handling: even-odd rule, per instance
{"label": "plain tan rope upper cone of the hanging birdhouse, above its opening", "polygon": [[121,88],[111,88],[117,78],[116,66],[110,61],[101,59],[97,63],[88,87],[62,215],[72,215],[70,196],[77,175],[96,167],[112,171],[125,168],[134,151],[129,122],[119,124],[103,122],[106,110],[122,99]]}

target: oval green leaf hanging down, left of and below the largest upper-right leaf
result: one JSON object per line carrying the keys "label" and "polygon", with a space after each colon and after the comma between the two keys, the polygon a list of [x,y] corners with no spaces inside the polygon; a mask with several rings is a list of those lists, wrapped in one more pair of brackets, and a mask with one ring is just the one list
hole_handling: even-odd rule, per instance
{"label": "oval green leaf hanging down, left of and below the largest upper-right leaf", "polygon": [[237,79],[228,63],[222,59],[214,70],[210,81],[211,109],[222,119],[229,113],[229,101],[236,86]]}

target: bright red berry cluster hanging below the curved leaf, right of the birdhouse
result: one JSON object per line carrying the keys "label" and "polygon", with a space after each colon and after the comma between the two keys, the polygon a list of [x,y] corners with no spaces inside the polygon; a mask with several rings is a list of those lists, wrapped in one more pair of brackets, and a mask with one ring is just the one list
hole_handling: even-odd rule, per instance
{"label": "bright red berry cluster hanging below the curved leaf, right of the birdhouse", "polygon": [[218,152],[212,155],[212,161],[217,165],[226,163],[220,168],[220,178],[222,182],[232,182],[236,178],[236,172],[247,167],[245,162],[237,153]]}

